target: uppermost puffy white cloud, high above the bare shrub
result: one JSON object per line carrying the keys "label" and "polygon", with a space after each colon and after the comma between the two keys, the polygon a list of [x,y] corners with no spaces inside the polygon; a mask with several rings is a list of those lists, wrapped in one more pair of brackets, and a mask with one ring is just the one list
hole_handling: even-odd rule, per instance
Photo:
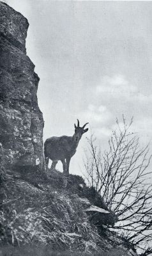
{"label": "uppermost puffy white cloud, high above the bare shrub", "polygon": [[105,95],[121,100],[135,100],[136,102],[152,102],[152,95],[145,95],[139,88],[131,84],[125,76],[104,76],[96,86],[96,95]]}

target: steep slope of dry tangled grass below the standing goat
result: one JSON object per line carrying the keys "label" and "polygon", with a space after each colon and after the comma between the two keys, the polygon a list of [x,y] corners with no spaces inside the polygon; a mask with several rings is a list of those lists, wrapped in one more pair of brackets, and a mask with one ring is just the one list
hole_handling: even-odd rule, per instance
{"label": "steep slope of dry tangled grass below the standing goat", "polygon": [[34,183],[33,177],[30,182],[30,177],[8,176],[0,211],[0,255],[128,255],[117,249],[115,236],[99,236],[89,221],[86,202],[79,197],[82,182],[72,175],[66,180],[59,172],[35,177]]}

